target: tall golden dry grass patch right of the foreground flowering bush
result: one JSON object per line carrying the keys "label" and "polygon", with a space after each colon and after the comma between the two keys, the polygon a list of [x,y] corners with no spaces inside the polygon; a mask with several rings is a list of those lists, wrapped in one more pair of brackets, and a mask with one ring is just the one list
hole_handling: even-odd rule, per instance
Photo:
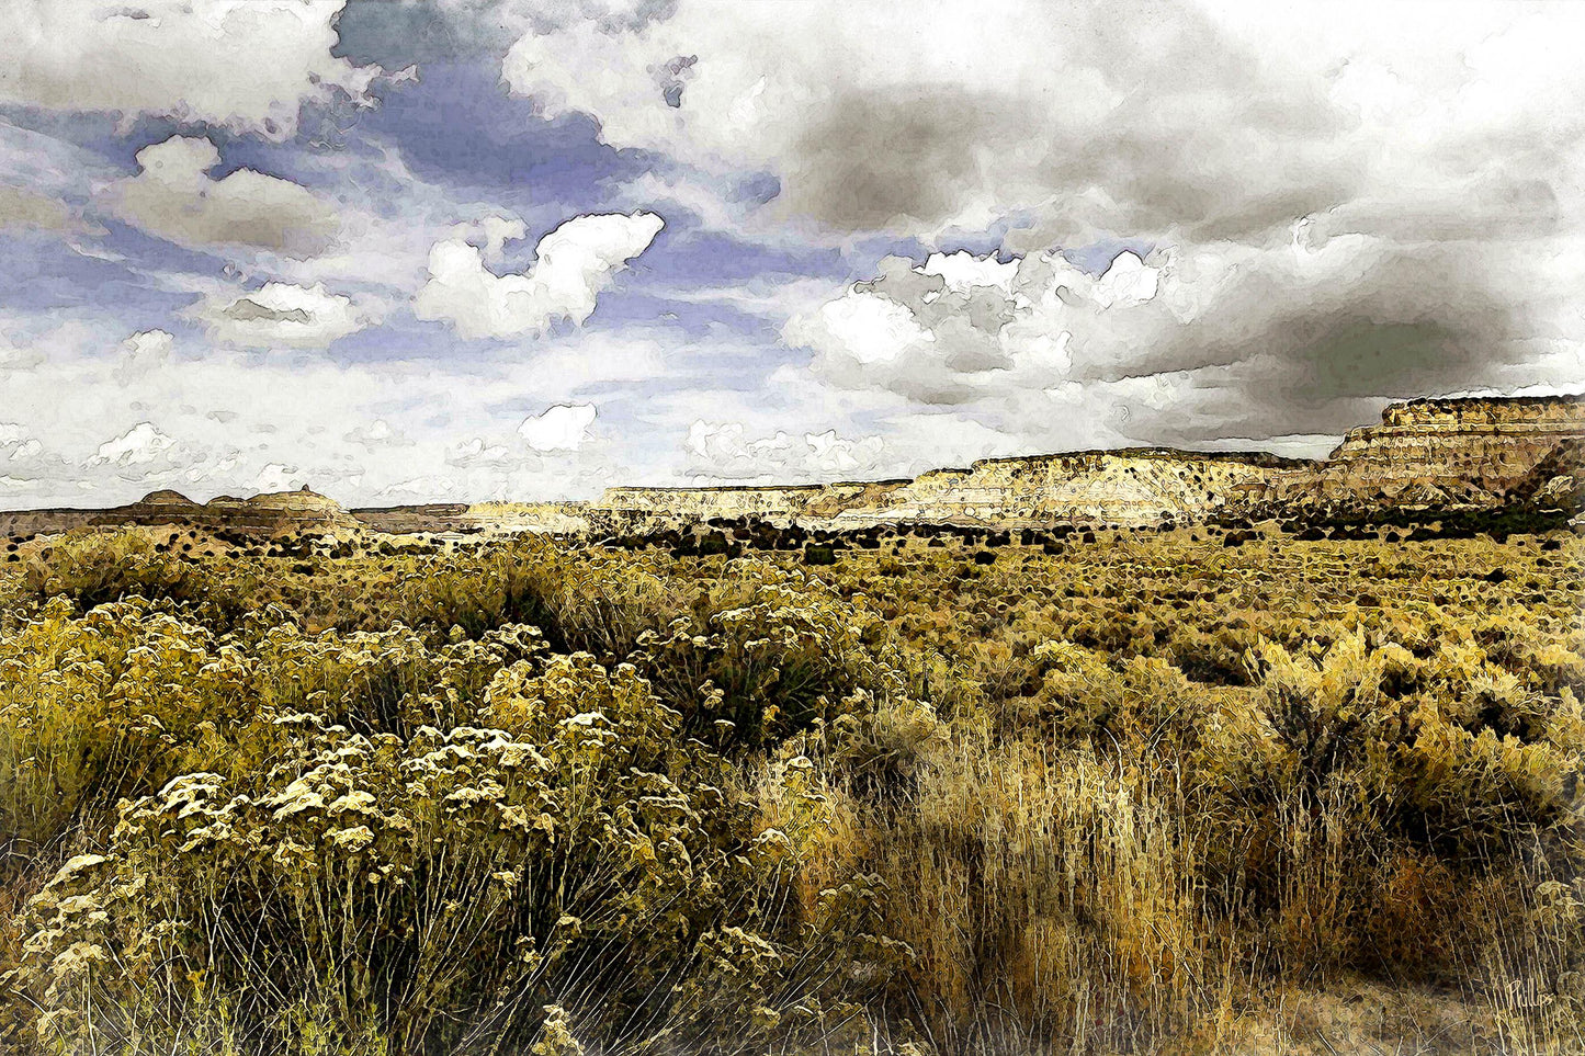
{"label": "tall golden dry grass patch right of the foreground flowering bush", "polygon": [[[1232,947],[1198,909],[1201,834],[1171,767],[961,736],[902,804],[842,801],[913,951],[907,1013],[940,1051],[1151,1051],[1216,1035]],[[810,877],[821,883],[819,877]]]}

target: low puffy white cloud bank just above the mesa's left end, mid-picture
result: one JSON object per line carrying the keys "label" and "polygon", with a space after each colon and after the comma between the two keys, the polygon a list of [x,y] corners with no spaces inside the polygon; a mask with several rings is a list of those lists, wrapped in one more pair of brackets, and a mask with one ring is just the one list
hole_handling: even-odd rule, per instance
{"label": "low puffy white cloud bank just above the mesa's left end, mid-picture", "polygon": [[880,436],[851,441],[826,430],[802,439],[785,431],[751,439],[740,422],[702,419],[688,428],[683,450],[691,477],[786,484],[872,476],[889,453]]}

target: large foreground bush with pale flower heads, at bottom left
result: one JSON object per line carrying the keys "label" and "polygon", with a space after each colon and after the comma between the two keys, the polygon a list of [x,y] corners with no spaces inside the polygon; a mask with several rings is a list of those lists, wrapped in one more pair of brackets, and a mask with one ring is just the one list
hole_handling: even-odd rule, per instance
{"label": "large foreground bush with pale flower heads, at bottom left", "polygon": [[262,1051],[745,1051],[813,1015],[788,993],[818,991],[810,937],[751,929],[785,837],[753,831],[631,666],[518,663],[488,701],[499,728],[407,740],[279,717],[298,737],[268,769],[125,804],[106,851],[29,907],[40,1037],[166,1050],[211,1023]]}

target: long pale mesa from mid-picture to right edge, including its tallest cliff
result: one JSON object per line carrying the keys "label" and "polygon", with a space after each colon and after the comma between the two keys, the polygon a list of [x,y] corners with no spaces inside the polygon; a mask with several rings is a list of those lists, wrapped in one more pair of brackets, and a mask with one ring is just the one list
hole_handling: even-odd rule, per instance
{"label": "long pale mesa from mid-picture to right edge, including its tallest cliff", "polygon": [[1523,504],[1577,509],[1585,400],[1415,400],[1352,430],[1323,461],[1265,452],[1090,450],[987,458],[872,485],[610,488],[618,523],[758,517],[821,528],[943,523],[1021,528],[1236,517],[1368,517]]}

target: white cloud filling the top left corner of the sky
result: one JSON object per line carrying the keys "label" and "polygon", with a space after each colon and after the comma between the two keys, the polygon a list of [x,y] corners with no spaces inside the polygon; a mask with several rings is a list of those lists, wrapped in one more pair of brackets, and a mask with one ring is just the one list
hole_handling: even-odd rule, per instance
{"label": "white cloud filling the top left corner of the sky", "polygon": [[0,8],[0,100],[212,122],[271,138],[376,68],[334,59],[339,0],[13,0]]}

